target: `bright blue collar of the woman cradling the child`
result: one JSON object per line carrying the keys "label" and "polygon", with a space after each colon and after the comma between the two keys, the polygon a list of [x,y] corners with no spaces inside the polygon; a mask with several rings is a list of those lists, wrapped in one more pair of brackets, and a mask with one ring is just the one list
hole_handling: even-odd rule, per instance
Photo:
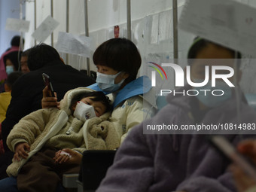
{"label": "bright blue collar of the woman cradling the child", "polygon": [[[92,84],[87,88],[96,91],[102,91],[97,84]],[[151,90],[151,80],[147,76],[136,78],[136,80],[130,82],[129,84],[126,84],[126,86],[117,93],[117,96],[115,97],[113,102],[113,108],[120,104],[120,102],[123,102],[133,96],[148,93],[149,90]],[[108,94],[104,91],[103,93]]]}

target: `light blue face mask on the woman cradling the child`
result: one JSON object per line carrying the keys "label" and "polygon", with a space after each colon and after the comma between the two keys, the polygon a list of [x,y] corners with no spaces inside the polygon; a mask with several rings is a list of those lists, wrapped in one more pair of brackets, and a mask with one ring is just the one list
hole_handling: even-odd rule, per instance
{"label": "light blue face mask on the woman cradling the child", "polygon": [[122,79],[120,83],[114,84],[114,79],[119,74],[120,72],[118,72],[116,75],[107,75],[107,74],[97,72],[96,83],[98,84],[101,90],[112,93],[116,90],[119,90],[119,88],[121,87],[121,84],[123,84],[123,81],[125,80],[125,79]]}

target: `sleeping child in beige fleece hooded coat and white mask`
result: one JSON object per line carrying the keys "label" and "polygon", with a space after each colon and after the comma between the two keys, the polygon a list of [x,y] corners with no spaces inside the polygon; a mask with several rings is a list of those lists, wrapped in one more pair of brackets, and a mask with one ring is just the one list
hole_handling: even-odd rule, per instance
{"label": "sleeping child in beige fleece hooded coat and white mask", "polygon": [[[104,142],[109,140],[104,134],[111,134],[111,127],[104,120],[97,129],[90,122],[107,119],[106,115],[110,113],[106,112],[110,110],[110,101],[104,93],[78,88],[66,93],[60,102],[60,110],[40,109],[23,117],[8,136],[8,146],[15,154],[7,172],[17,177],[18,190],[56,191],[64,173],[79,172],[79,154],[89,145],[97,145],[99,137]],[[92,136],[95,132],[99,135],[90,139],[85,136],[90,131]],[[111,135],[109,137],[114,139]],[[90,141],[85,141],[87,139]],[[62,151],[64,148],[68,149]],[[1,183],[0,188],[4,189]]]}

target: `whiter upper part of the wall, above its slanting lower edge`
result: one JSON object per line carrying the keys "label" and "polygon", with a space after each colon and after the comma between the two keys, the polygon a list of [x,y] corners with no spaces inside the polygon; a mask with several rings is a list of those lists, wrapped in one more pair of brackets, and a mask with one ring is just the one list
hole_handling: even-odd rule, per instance
{"label": "whiter upper part of the wall, above its slanting lower edge", "polygon": [[[50,14],[50,1],[37,0],[37,26]],[[69,32],[84,34],[84,0],[69,1]],[[132,20],[142,19],[146,15],[168,10],[172,7],[170,0],[132,0]],[[30,34],[34,30],[34,3],[26,4],[26,20],[31,20]],[[66,31],[66,1],[53,1],[53,17],[60,25],[54,32]],[[108,29],[110,26],[126,23],[126,0],[91,0],[88,1],[90,32]],[[27,35],[30,36],[28,33]],[[46,43],[50,43],[50,38]],[[31,42],[30,44],[33,44]]]}

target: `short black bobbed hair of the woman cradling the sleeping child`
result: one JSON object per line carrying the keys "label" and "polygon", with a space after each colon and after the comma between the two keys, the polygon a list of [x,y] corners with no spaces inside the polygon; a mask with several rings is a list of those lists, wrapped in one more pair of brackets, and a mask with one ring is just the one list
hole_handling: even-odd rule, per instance
{"label": "short black bobbed hair of the woman cradling the sleeping child", "polygon": [[132,41],[126,38],[111,38],[105,41],[93,53],[95,65],[108,66],[118,72],[126,72],[130,76],[126,83],[136,79],[142,58]]}

